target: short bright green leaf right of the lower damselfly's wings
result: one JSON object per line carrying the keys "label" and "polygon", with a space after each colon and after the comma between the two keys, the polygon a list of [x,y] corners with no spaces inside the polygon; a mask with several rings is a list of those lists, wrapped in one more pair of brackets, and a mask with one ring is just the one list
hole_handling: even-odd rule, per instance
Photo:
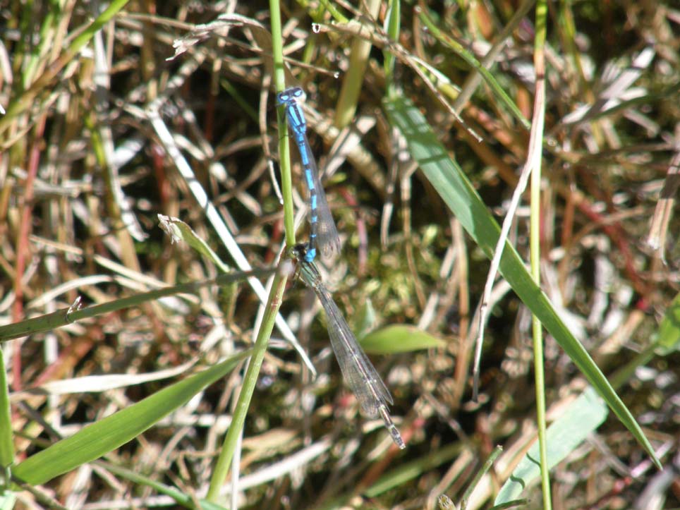
{"label": "short bright green leaf right of the lower damselfly's wings", "polygon": [[367,334],[361,346],[367,353],[391,354],[444,347],[446,342],[415,326],[394,324]]}

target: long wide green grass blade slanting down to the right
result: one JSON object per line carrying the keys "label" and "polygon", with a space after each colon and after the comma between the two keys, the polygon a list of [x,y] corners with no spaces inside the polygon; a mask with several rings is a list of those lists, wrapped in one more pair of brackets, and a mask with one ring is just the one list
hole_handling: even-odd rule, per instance
{"label": "long wide green grass blade slanting down to the right", "polygon": [[[461,221],[463,228],[475,243],[487,257],[491,258],[499,236],[499,226],[460,166],[449,157],[428,126],[425,117],[408,99],[403,97],[385,99],[384,107],[390,123],[399,128],[406,138],[411,157],[418,162],[423,174],[448,205],[449,210]],[[535,284],[518,253],[509,243],[506,243],[499,272],[660,468],[661,464],[640,425],[597,368],[588,351],[585,351],[583,345],[560,320],[550,300]]]}

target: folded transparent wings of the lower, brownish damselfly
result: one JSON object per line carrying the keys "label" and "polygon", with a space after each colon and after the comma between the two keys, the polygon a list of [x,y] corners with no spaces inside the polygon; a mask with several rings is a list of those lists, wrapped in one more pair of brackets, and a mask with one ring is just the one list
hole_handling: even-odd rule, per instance
{"label": "folded transparent wings of the lower, brownish damselfly", "polygon": [[326,312],[328,335],[345,382],[356,395],[363,413],[375,418],[381,406],[393,403],[392,396],[361,350],[329,291],[320,282],[313,288]]}

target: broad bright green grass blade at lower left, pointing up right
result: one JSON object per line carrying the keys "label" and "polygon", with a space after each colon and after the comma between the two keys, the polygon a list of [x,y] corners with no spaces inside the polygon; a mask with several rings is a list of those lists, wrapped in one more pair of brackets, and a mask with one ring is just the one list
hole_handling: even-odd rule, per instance
{"label": "broad bright green grass blade at lower left, pointing up right", "polygon": [[245,351],[224,360],[146,399],[30,456],[13,469],[23,482],[40,485],[63,473],[99,459],[152,427],[166,415],[183,406],[199,391],[227,375],[236,364],[250,355]]}

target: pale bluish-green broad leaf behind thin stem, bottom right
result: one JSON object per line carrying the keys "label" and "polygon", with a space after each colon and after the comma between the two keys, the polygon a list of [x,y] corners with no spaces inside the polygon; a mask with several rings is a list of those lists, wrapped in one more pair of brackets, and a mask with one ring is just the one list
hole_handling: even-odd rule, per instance
{"label": "pale bluish-green broad leaf behind thin stem, bottom right", "polygon": [[[607,418],[607,406],[604,401],[597,396],[592,387],[586,388],[546,431],[548,468],[553,468],[564,460],[591,432],[602,425],[605,418]],[[530,483],[538,480],[539,463],[537,440],[501,487],[494,505],[517,499]]]}

